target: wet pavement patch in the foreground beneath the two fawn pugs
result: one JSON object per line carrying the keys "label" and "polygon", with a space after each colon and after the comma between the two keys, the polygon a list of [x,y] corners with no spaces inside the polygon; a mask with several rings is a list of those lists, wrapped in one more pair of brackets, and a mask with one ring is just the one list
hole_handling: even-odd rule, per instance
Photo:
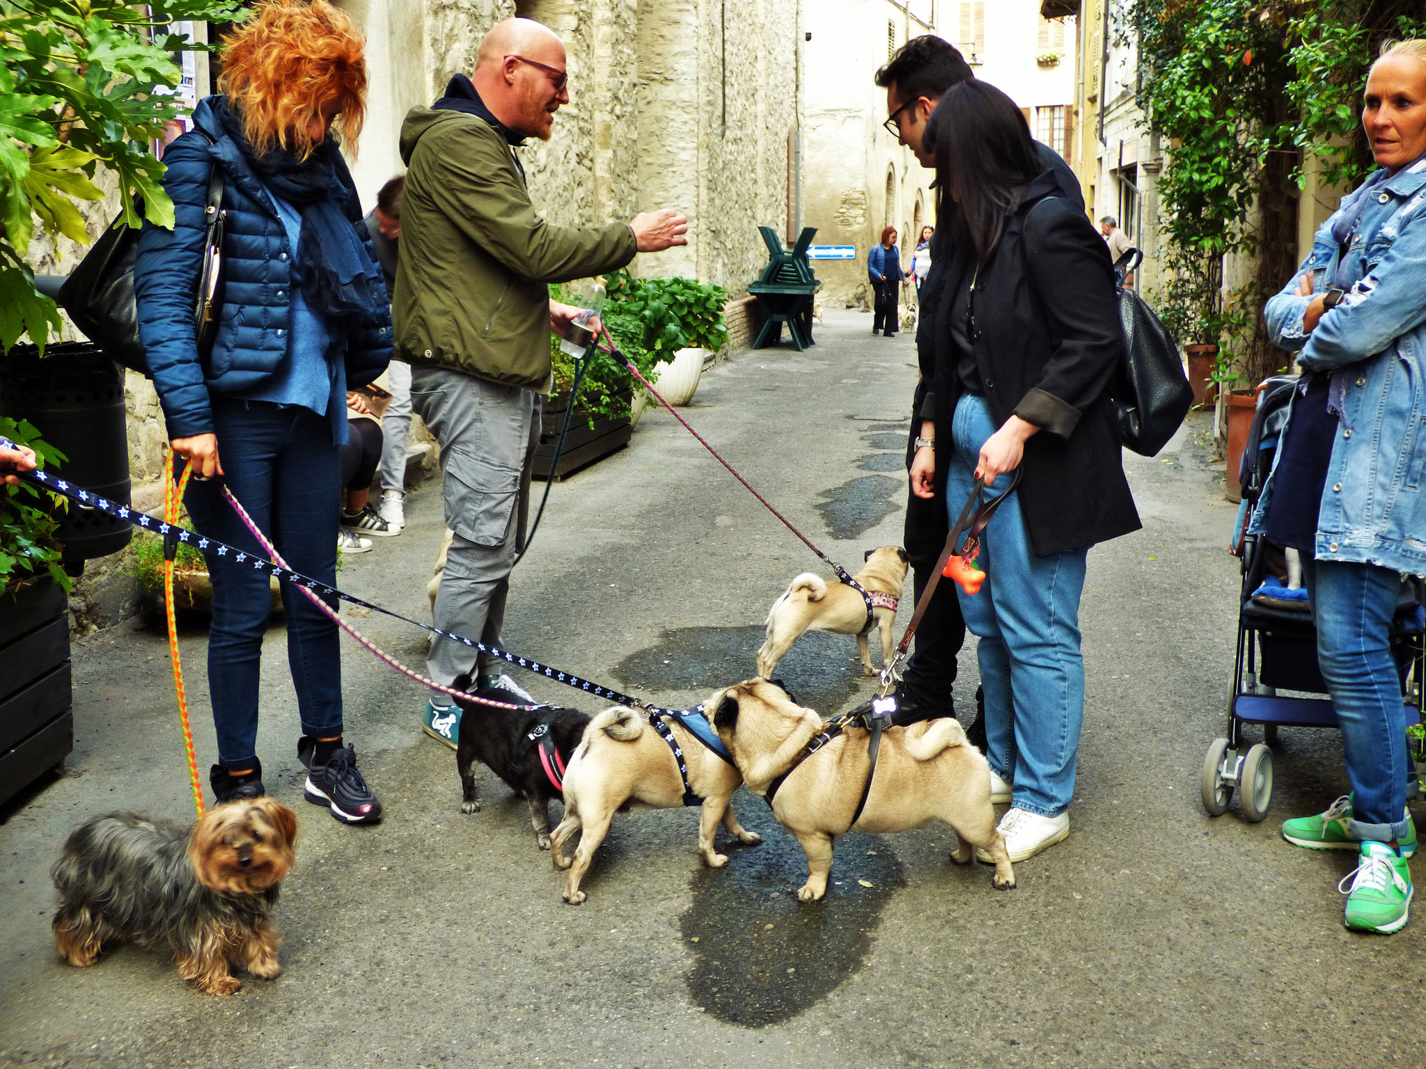
{"label": "wet pavement patch in the foreground beneath the two fawn pugs", "polygon": [[807,855],[797,840],[744,791],[734,805],[763,845],[734,842],[727,865],[694,874],[693,902],[680,918],[693,952],[686,979],[693,1005],[764,1028],[816,1005],[863,966],[881,911],[906,878],[880,838],[851,834],[837,840],[826,898],[799,902]]}

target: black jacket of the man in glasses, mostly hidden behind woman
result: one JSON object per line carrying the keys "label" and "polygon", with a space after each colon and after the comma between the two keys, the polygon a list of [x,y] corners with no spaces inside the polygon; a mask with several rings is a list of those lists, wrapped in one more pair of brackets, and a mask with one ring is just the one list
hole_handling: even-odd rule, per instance
{"label": "black jacket of the man in glasses, mostly hidden behind woman", "polygon": [[[1070,170],[1070,164],[1050,145],[1035,143],[1035,154],[1044,170],[1054,175],[1057,195],[1071,201],[1081,211],[1084,197],[1079,194],[1079,180]],[[911,406],[911,435],[907,440],[906,466],[911,468],[915,458],[915,438],[921,433],[923,419],[935,419],[934,412],[921,412],[921,405],[931,392],[931,382],[935,379],[935,321],[937,302],[941,295],[943,282],[947,275],[960,277],[957,267],[960,251],[951,247],[950,231],[937,231],[931,241],[931,269],[921,284],[921,294],[917,298],[920,312],[915,325],[917,361],[921,368],[921,379],[915,386],[915,399]],[[947,442],[947,448],[948,448]],[[960,512],[960,505],[957,505]],[[935,480],[934,497],[917,497],[907,495],[906,529],[903,533],[906,550],[911,557],[913,567],[918,570],[930,569],[935,564],[941,549],[945,546],[945,536],[951,522],[945,510],[945,480]]]}

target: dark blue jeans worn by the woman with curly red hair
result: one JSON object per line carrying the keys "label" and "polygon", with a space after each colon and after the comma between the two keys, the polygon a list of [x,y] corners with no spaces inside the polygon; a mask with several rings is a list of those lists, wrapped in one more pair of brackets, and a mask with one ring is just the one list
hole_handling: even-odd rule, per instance
{"label": "dark blue jeans worn by the woman with curly red hair", "polygon": [[[287,563],[337,583],[339,450],[331,423],[311,409],[267,401],[214,398],[214,425],[224,479]],[[194,527],[211,539],[267,560],[267,553],[222,497],[222,482],[188,483]],[[205,549],[212,576],[208,633],[208,694],[218,730],[218,764],[250,768],[257,757],[258,676],[272,594],[265,572],[238,564],[231,553]],[[332,607],[337,599],[331,599]],[[287,657],[302,731],[342,731],[342,661],[337,624],[282,583]]]}

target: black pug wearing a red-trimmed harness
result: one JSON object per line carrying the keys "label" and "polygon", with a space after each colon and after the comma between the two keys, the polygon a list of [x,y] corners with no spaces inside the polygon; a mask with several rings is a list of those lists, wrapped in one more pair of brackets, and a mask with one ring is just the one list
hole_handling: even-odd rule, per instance
{"label": "black pug wearing a red-trimmed harness", "polygon": [[[466,690],[471,678],[455,681]],[[501,687],[475,691],[482,698],[523,704],[518,694]],[[499,708],[478,701],[455,700],[461,707],[461,735],[455,767],[461,773],[461,812],[479,812],[472,765],[481,761],[530,807],[530,824],[540,849],[549,849],[549,802],[563,797],[565,765],[585,737],[589,717],[578,708],[538,706],[530,710]]]}

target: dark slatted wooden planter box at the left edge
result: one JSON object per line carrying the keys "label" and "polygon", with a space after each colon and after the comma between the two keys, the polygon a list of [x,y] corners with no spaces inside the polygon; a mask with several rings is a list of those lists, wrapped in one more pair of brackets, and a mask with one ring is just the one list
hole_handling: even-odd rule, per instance
{"label": "dark slatted wooden planter box at the left edge", "polygon": [[68,599],[46,577],[0,596],[0,802],[74,748]]}

